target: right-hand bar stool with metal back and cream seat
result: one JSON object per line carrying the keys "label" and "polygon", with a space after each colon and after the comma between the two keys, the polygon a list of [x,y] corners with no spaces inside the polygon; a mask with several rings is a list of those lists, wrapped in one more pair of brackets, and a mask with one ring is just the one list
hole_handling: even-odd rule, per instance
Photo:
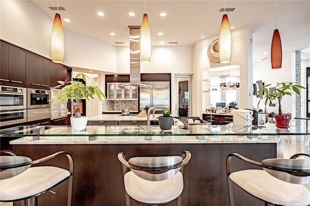
{"label": "right-hand bar stool with metal back and cream seat", "polygon": [[[298,158],[305,156],[306,158]],[[231,161],[236,157],[260,169],[232,172]],[[309,206],[310,191],[304,184],[310,183],[310,155],[296,154],[289,159],[269,158],[257,162],[231,153],[226,160],[230,205],[234,206],[233,183],[250,195],[262,200],[265,206]]]}

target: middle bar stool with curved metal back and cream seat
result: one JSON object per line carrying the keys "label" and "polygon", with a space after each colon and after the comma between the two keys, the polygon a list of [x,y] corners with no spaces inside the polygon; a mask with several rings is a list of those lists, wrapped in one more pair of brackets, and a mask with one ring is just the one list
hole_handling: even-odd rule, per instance
{"label": "middle bar stool with curved metal back and cream seat", "polygon": [[190,158],[190,152],[183,151],[181,156],[134,157],[126,161],[124,153],[119,153],[118,159],[123,165],[126,206],[130,206],[129,196],[151,206],[177,199],[177,206],[181,206],[183,167]]}

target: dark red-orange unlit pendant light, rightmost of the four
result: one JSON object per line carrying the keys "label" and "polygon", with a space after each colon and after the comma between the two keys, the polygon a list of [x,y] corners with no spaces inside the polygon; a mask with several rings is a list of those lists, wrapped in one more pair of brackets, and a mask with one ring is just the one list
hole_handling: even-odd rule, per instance
{"label": "dark red-orange unlit pendant light, rightmost of the four", "polygon": [[276,1],[276,29],[273,32],[271,42],[271,68],[280,69],[282,67],[282,44],[279,30],[277,29],[277,1]]}

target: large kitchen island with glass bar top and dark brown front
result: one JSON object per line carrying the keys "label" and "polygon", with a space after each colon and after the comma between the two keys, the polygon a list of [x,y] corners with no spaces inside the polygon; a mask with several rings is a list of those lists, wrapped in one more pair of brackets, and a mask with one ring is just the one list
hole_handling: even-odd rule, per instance
{"label": "large kitchen island with glass bar top and dark brown front", "polygon": [[[136,156],[181,155],[189,150],[192,158],[184,167],[183,206],[228,206],[226,157],[232,152],[261,161],[283,156],[282,135],[309,135],[307,120],[293,120],[291,127],[240,127],[233,125],[173,126],[162,131],[158,126],[87,126],[84,131],[71,127],[14,127],[1,135],[19,136],[11,141],[19,155],[42,158],[57,151],[67,151],[75,161],[73,205],[125,205],[122,165],[119,152],[126,158]],[[236,130],[237,128],[237,130]],[[62,165],[60,161],[52,165]],[[233,162],[233,170],[249,168]],[[67,183],[55,188],[56,195],[39,196],[39,204],[65,205]],[[261,201],[235,187],[236,205],[263,206]],[[132,206],[140,205],[131,201]],[[173,201],[169,206],[176,206]]]}

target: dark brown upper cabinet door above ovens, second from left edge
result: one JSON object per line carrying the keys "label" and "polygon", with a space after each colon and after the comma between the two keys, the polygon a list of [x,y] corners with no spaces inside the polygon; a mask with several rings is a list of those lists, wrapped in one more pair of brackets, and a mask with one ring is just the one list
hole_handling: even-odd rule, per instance
{"label": "dark brown upper cabinet door above ovens, second from left edge", "polygon": [[26,84],[26,52],[13,47],[9,47],[9,79]]}

